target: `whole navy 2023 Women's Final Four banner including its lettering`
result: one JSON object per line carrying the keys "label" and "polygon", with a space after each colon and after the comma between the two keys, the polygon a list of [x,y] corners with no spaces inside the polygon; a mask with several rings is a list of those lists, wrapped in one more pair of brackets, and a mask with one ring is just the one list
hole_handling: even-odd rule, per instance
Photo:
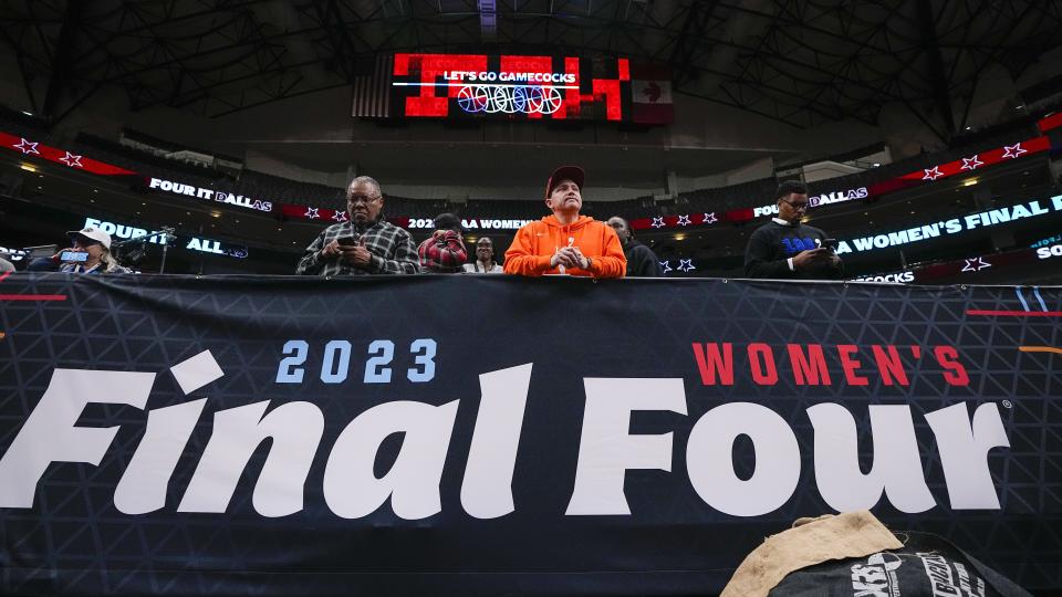
{"label": "whole navy 2023 Women's Final Four banner including its lettering", "polygon": [[1060,289],[10,275],[0,593],[712,594],[860,509],[1058,590],[1060,322]]}

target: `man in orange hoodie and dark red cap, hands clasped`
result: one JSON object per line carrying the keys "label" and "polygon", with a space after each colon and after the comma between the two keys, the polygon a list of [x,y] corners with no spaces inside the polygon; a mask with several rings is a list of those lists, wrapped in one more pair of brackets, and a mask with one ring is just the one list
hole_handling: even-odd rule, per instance
{"label": "man in orange hoodie and dark red cap, hands clasped", "polygon": [[623,277],[627,260],[615,230],[579,214],[585,179],[577,166],[553,170],[545,182],[545,206],[553,214],[517,231],[506,251],[506,273]]}

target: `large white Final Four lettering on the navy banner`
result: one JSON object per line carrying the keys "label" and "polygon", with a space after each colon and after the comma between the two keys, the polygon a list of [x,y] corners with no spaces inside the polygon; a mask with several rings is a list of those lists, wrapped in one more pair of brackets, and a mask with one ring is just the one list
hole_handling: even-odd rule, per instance
{"label": "large white Final Four lettering on the navy banner", "polygon": [[[1059,245],[1062,248],[1062,245]],[[1062,249],[1060,249],[1062,252]],[[185,394],[223,376],[216,363],[175,366]],[[212,363],[212,359],[211,359]],[[202,369],[202,370],[200,370]],[[461,505],[477,519],[516,510],[512,493],[532,365],[480,376],[481,399],[460,490]],[[100,465],[118,427],[77,427],[88,404],[129,405],[143,409],[154,374],[56,369],[44,395],[0,458],[0,507],[33,507],[37,485],[59,462]],[[568,515],[631,514],[624,493],[626,471],[671,471],[674,433],[632,432],[635,411],[687,415],[680,378],[587,378],[582,436]],[[96,388],[85,391],[85,388]],[[110,394],[108,394],[110,392]],[[92,396],[93,398],[88,398]],[[100,396],[100,397],[96,397]],[[199,423],[206,399],[150,411],[144,436],[114,491],[125,514],[165,507],[177,463]],[[178,512],[226,512],[252,454],[268,441],[269,451],[256,482],[252,504],[262,516],[284,516],[303,509],[305,481],[323,434],[321,410],[295,401],[269,413],[269,401],[221,410]],[[339,516],[366,516],[388,499],[405,520],[441,510],[440,483],[458,401],[433,406],[395,401],[355,417],[340,433],[324,469],[323,495]],[[873,465],[860,468],[855,418],[843,405],[806,409],[814,432],[811,458],[825,503],[842,511],[877,505],[884,494],[900,512],[935,505],[906,405],[868,407]],[[934,433],[952,510],[999,510],[989,469],[992,448],[1010,446],[995,404],[965,402],[925,416]],[[386,474],[377,478],[382,447],[403,434]],[[739,436],[751,441],[754,469],[747,479],[735,470]],[[686,464],[690,485],[709,506],[733,516],[768,514],[785,504],[801,473],[801,447],[789,423],[766,406],[731,402],[705,413],[689,431]],[[867,580],[868,582],[868,580]]]}

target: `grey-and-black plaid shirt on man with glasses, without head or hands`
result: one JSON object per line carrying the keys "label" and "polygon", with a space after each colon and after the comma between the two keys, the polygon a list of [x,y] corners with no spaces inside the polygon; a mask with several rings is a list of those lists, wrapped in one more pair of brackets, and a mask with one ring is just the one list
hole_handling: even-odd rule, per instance
{"label": "grey-and-black plaid shirt on man with glasses, without head or hands", "polygon": [[[341,259],[321,256],[321,250],[325,244],[344,237],[365,239],[365,248],[373,254],[368,268],[363,270]],[[299,261],[295,273],[300,275],[415,274],[420,273],[420,264],[409,232],[381,217],[361,233],[351,221],[325,228],[310,243],[310,247],[306,247],[306,254]]]}

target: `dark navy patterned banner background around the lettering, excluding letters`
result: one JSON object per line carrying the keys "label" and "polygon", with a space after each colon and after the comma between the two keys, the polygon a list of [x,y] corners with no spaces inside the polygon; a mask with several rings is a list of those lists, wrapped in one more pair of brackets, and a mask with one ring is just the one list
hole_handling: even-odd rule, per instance
{"label": "dark navy patterned banner background around the lettering, excluding letters", "polygon": [[[883,496],[873,512],[896,531],[918,530],[958,546],[1030,589],[1062,588],[1062,388],[1059,355],[1019,346],[1062,346],[1056,316],[985,316],[969,311],[1062,311],[1056,289],[909,287],[878,284],[715,280],[409,276],[316,280],[288,276],[82,276],[14,274],[8,295],[62,301],[0,301],[0,454],[7,452],[56,368],[152,371],[145,410],[90,405],[79,427],[121,426],[100,467],[55,463],[32,509],[0,509],[0,591],[70,595],[227,594],[706,594],[767,535],[798,516],[831,512],[814,479],[805,413],[837,402],[853,415],[864,472],[873,464],[867,406],[910,405],[925,475],[937,506],[898,512]],[[1039,297],[1042,300],[1038,301]],[[435,376],[412,383],[408,347],[436,341]],[[282,347],[310,346],[300,384],[277,384]],[[317,375],[325,344],[351,342],[348,378]],[[367,347],[395,345],[388,384],[365,384]],[[733,386],[704,386],[693,343],[733,343]],[[766,343],[779,383],[752,381],[739,356]],[[833,384],[798,386],[785,345],[822,344]],[[954,346],[967,387],[941,381],[931,359],[906,359],[908,387],[877,375],[853,387],[835,345]],[[169,367],[210,350],[225,376],[185,396]],[[905,357],[906,358],[906,357]],[[476,422],[478,376],[533,364],[512,493],[516,511],[479,520],[465,512],[461,481]],[[566,516],[580,453],[584,378],[681,378],[688,416],[636,412],[632,434],[674,432],[671,472],[631,470],[631,515]],[[97,394],[113,388],[85,388]],[[166,506],[118,512],[114,488],[143,437],[148,410],[207,398],[170,480]],[[407,521],[385,503],[346,520],[322,495],[327,454],[340,431],[366,409],[394,400],[460,400],[440,486],[441,512]],[[177,504],[211,433],[214,413],[261,400],[269,409],[305,400],[325,429],[301,512],[263,517],[251,503],[269,449],[263,442],[223,514],[178,513]],[[956,402],[1000,406],[1010,448],[988,457],[999,511],[952,511],[934,436],[923,415]],[[686,440],[708,410],[743,401],[780,415],[800,443],[800,484],[778,510],[754,517],[707,505],[686,473]],[[386,472],[402,444],[383,443]],[[749,441],[735,442],[739,475],[754,470]]]}

